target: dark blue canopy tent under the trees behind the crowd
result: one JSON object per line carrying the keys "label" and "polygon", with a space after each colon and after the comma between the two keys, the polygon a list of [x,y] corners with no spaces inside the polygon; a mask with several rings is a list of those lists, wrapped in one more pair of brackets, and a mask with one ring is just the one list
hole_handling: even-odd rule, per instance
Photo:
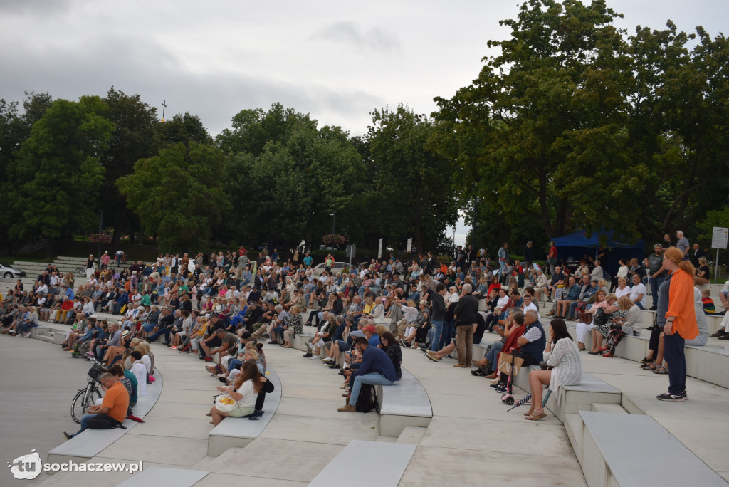
{"label": "dark blue canopy tent under the trees behind the crowd", "polygon": [[642,240],[636,241],[633,244],[623,241],[620,238],[613,240],[612,230],[593,232],[590,238],[585,236],[585,233],[587,233],[586,230],[580,230],[569,235],[553,238],[552,240],[557,247],[557,260],[564,259],[567,262],[571,260],[579,262],[585,254],[594,259],[598,254],[601,236],[604,236],[604,250],[606,255],[600,263],[603,270],[611,276],[615,276],[615,273],[617,273],[617,268],[619,267],[617,261],[619,259],[625,258],[626,260],[631,260],[636,257],[639,262],[643,260],[645,242]]}

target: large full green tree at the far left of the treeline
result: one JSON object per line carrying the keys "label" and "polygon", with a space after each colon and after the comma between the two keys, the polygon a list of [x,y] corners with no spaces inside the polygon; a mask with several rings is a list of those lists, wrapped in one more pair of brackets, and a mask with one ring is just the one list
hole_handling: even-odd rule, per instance
{"label": "large full green tree at the far left of the treeline", "polygon": [[95,220],[104,179],[99,157],[114,129],[105,111],[98,96],[56,100],[33,125],[4,184],[9,209],[2,214],[11,238],[48,238],[52,255],[53,244]]}

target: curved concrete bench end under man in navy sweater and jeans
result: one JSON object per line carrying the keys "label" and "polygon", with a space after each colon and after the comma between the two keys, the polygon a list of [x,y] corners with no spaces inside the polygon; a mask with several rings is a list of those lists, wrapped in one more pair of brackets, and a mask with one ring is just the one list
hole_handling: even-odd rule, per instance
{"label": "curved concrete bench end under man in navy sweater and jeans", "polygon": [[380,405],[380,435],[397,437],[407,426],[426,427],[433,417],[430,398],[408,370],[391,386],[375,386]]}

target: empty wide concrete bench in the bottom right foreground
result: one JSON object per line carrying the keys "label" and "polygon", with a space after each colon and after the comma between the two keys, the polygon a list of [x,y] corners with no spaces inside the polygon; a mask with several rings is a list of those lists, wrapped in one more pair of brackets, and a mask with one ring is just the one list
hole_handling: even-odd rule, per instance
{"label": "empty wide concrete bench in the bottom right foreground", "polygon": [[651,416],[579,414],[575,453],[590,487],[727,485]]}

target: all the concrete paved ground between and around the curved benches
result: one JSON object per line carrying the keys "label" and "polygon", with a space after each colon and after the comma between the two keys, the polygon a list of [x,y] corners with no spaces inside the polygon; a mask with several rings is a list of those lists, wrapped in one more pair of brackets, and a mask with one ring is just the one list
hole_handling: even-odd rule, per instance
{"label": "all the concrete paved ground between and around the curved benches", "polygon": [[[494,336],[487,334],[485,339],[493,340]],[[13,370],[0,378],[0,390],[10,392],[0,405],[4,413],[0,423],[2,451],[11,461],[36,448],[44,459],[48,449],[62,442],[61,431],[75,427],[69,415],[70,402],[75,389],[83,385],[87,362],[71,359],[58,346],[40,340],[0,335],[0,349],[4,351],[0,354],[3,370]],[[343,398],[341,378],[334,370],[319,361],[303,359],[301,351],[268,345],[268,363],[276,370],[283,391],[276,416],[248,447],[208,457],[207,434],[212,426],[205,414],[211,408],[217,381],[195,356],[160,345],[153,350],[155,365],[164,379],[159,402],[146,424],[130,430],[94,461],[144,459],[145,467],[213,472],[197,486],[236,480],[254,486],[303,486],[350,440],[394,441],[380,436],[375,413],[337,412]],[[585,372],[625,391],[709,467],[729,478],[723,458],[729,426],[715,421],[722,417],[729,400],[727,389],[690,378],[690,401],[659,402],[655,394],[666,388],[665,375],[646,373],[624,359],[586,354],[582,359]],[[421,352],[403,351],[403,365],[425,387],[434,416],[424,436],[414,442],[418,447],[399,485],[438,485],[456,479],[476,485],[488,479],[532,486],[544,483],[545,475],[552,485],[585,485],[564,426],[554,416],[532,423],[523,418],[526,407],[506,413],[499,394],[488,388],[488,381],[453,368],[453,363],[451,359],[435,363]],[[51,370],[48,364],[52,364]],[[28,406],[36,394],[42,394],[40,404]],[[515,391],[516,396],[521,394],[524,391]],[[267,457],[275,458],[275,465],[262,461]],[[14,479],[11,482],[15,483],[7,483],[9,477],[3,473],[1,486],[22,485]],[[36,485],[116,486],[128,478],[128,474],[79,472],[36,480]]]}

